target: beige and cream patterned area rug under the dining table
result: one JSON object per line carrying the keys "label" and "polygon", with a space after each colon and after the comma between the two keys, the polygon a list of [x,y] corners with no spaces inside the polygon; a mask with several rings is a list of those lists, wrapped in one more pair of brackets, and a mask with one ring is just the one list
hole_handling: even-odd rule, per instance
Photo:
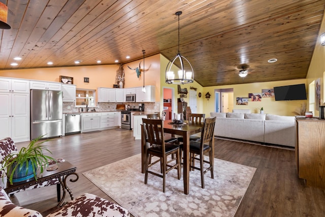
{"label": "beige and cream patterned area rug under the dining table", "polygon": [[[160,171],[159,164],[155,170]],[[190,171],[188,195],[183,179],[177,179],[177,170],[167,174],[166,193],[160,177],[148,174],[144,184],[140,154],[83,174],[137,217],[234,216],[255,170],[215,159],[214,179],[209,172],[205,174],[205,189],[201,188],[200,171]]]}

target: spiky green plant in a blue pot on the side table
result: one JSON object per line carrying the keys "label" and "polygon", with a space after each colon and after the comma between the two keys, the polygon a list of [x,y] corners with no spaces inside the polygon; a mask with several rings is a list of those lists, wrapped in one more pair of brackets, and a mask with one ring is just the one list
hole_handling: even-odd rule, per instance
{"label": "spiky green plant in a blue pot on the side table", "polygon": [[42,173],[49,161],[55,161],[54,158],[43,153],[43,151],[48,151],[52,154],[44,144],[49,140],[39,141],[42,137],[37,137],[30,141],[27,147],[22,147],[19,152],[10,153],[5,157],[1,170],[7,171],[10,184],[27,180],[33,176],[37,180],[38,167]]}

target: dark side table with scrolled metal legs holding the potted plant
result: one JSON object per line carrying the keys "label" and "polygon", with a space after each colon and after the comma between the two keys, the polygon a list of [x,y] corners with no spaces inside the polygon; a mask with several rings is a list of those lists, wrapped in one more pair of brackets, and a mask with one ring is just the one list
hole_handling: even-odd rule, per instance
{"label": "dark side table with scrolled metal legs holding the potted plant", "polygon": [[[50,165],[50,166],[55,166],[55,164]],[[37,181],[35,180],[34,177],[32,177],[26,181],[16,182],[13,184],[10,184],[10,182],[8,181],[7,186],[5,188],[6,193],[9,195],[12,192],[16,192],[18,190],[24,190],[24,189],[27,189],[28,187],[31,187],[34,185],[42,185],[42,183],[45,181],[58,179],[60,182],[59,184],[57,184],[58,193],[60,192],[60,186],[61,186],[63,195],[60,198],[60,201],[58,201],[59,203],[57,204],[57,206],[62,205],[64,197],[66,197],[66,191],[70,194],[71,200],[73,200],[74,196],[67,185],[67,178],[70,175],[75,175],[76,176],[75,179],[71,178],[70,181],[71,182],[77,181],[79,179],[79,175],[76,173],[77,168],[67,161],[59,162],[59,163],[57,163],[57,166],[58,166],[58,169],[53,170],[53,171],[47,171],[45,168],[43,173],[39,173],[39,171],[40,171],[39,170],[38,174],[37,174]],[[60,197],[60,196],[58,195],[58,197]]]}

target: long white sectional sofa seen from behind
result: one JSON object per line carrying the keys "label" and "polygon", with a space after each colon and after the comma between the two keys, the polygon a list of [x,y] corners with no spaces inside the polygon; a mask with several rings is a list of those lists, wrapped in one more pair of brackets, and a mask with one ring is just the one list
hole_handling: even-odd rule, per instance
{"label": "long white sectional sofa seen from behind", "polygon": [[[236,111],[235,111],[236,112]],[[296,121],[294,116],[257,113],[217,113],[214,135],[261,143],[295,147]]]}

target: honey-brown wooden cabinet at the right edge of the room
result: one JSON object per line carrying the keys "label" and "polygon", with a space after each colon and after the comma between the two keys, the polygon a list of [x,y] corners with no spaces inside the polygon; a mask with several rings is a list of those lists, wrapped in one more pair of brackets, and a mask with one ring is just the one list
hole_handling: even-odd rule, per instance
{"label": "honey-brown wooden cabinet at the right edge of the room", "polygon": [[325,189],[325,120],[296,118],[296,123],[298,176],[307,185]]}

